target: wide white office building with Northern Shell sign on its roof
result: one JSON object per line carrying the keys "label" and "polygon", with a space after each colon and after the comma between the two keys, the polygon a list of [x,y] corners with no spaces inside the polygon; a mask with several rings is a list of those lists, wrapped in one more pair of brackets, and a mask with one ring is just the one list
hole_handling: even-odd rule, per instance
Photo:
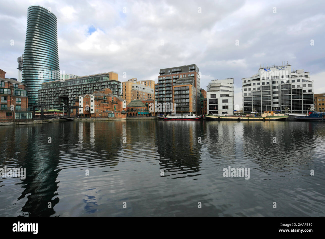
{"label": "wide white office building with Northern Shell sign on its roof", "polygon": [[243,113],[279,110],[281,113],[307,113],[314,105],[314,82],[309,72],[291,71],[291,65],[269,66],[242,78]]}

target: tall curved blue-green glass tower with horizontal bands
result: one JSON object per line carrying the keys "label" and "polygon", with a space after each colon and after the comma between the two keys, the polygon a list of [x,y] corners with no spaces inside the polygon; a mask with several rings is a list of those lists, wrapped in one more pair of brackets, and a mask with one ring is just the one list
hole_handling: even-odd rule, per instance
{"label": "tall curved blue-green glass tower with horizontal bands", "polygon": [[57,18],[49,9],[39,5],[32,5],[27,10],[22,71],[22,82],[28,90],[28,106],[32,109],[38,103],[38,90],[42,83],[59,79]]}

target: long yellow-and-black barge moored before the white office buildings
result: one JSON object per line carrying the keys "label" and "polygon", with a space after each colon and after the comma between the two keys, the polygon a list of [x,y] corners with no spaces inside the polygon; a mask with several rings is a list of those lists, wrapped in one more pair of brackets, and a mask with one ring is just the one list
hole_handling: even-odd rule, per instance
{"label": "long yellow-and-black barge moored before the white office buildings", "polygon": [[228,115],[222,116],[217,114],[206,114],[206,120],[286,120],[289,116],[285,114],[277,114],[274,111],[265,111],[261,115],[246,114],[246,115]]}

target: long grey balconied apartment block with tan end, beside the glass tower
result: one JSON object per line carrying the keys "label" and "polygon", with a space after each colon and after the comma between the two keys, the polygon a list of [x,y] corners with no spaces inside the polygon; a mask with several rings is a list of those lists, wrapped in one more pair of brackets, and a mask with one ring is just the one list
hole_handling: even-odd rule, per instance
{"label": "long grey balconied apartment block with tan end, beside the glass tower", "polygon": [[117,79],[116,72],[108,72],[43,83],[39,90],[39,103],[44,104],[46,109],[61,109],[63,103],[73,106],[75,97],[104,88],[122,97],[122,82]]}

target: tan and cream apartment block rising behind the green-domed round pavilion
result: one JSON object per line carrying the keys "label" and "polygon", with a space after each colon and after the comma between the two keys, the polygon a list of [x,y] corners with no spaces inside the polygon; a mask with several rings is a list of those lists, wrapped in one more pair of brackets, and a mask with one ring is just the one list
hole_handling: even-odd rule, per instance
{"label": "tan and cream apartment block rising behind the green-domed round pavilion", "polygon": [[139,84],[136,78],[122,82],[122,91],[126,104],[129,104],[131,100],[155,99],[154,88]]}

